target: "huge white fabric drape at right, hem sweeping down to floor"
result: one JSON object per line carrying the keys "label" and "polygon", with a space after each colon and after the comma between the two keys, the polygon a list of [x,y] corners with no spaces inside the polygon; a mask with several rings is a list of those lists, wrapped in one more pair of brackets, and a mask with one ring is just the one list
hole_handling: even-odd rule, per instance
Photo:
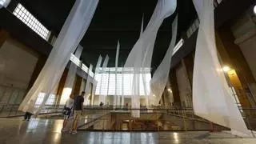
{"label": "huge white fabric drape at right, hem sweeping down to floor", "polygon": [[214,34],[214,4],[210,0],[194,0],[200,25],[194,58],[193,107],[194,113],[222,126],[233,134],[250,134],[242,115],[229,94]]}

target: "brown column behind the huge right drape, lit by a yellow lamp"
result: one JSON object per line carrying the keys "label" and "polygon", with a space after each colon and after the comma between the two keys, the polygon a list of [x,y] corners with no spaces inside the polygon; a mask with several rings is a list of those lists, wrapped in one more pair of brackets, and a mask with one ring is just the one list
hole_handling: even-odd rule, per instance
{"label": "brown column behind the huge right drape, lit by a yellow lamp", "polygon": [[216,44],[223,66],[230,66],[235,73],[230,78],[242,107],[255,106],[255,101],[250,93],[250,84],[255,83],[254,76],[244,58],[240,47],[234,44],[234,36],[230,26],[222,26],[216,35]]}

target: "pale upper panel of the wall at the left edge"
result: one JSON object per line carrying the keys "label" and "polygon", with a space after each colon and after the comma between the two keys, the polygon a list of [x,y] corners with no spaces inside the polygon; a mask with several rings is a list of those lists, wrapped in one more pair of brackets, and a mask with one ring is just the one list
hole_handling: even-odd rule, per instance
{"label": "pale upper panel of the wall at the left edge", "polygon": [[37,61],[25,46],[6,40],[0,48],[0,85],[26,89]]}

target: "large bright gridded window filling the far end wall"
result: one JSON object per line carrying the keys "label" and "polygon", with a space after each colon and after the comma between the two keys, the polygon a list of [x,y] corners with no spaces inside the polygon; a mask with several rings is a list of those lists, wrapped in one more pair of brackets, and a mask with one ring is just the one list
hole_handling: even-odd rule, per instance
{"label": "large bright gridded window filling the far end wall", "polygon": [[[101,69],[100,69],[101,70]],[[95,80],[98,82],[96,86],[97,95],[115,95],[115,90],[117,90],[118,95],[130,96],[132,94],[132,79],[134,74],[130,74],[130,71],[125,71],[122,74],[122,68],[118,68],[117,74],[117,86],[115,86],[115,68],[106,68],[105,73],[96,74]],[[145,78],[142,78],[140,74],[140,85],[139,91],[140,95],[145,95],[144,82],[146,83],[146,93],[150,94],[150,70],[145,74]],[[144,80],[144,82],[143,82]],[[123,82],[122,82],[123,81]],[[123,90],[123,91],[122,91]]]}

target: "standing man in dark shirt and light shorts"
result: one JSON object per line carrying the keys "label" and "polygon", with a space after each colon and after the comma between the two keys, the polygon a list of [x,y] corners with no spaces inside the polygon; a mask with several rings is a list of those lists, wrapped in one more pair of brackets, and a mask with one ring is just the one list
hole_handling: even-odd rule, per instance
{"label": "standing man in dark shirt and light shorts", "polygon": [[76,98],[74,98],[74,120],[72,124],[72,129],[70,131],[71,134],[78,134],[77,129],[78,129],[78,121],[82,116],[82,110],[83,110],[83,102],[84,98],[83,96],[85,95],[85,91],[82,91],[80,95],[78,95]]}

